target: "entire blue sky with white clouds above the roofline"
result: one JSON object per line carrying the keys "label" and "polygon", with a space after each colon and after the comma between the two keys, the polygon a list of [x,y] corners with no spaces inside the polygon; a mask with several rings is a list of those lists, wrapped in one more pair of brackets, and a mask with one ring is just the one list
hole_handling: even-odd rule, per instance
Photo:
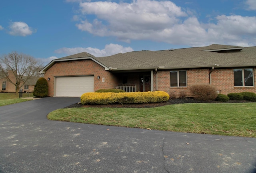
{"label": "entire blue sky with white clouds above the roofline", "polygon": [[256,0],[4,0],[0,54],[96,57],[210,44],[256,46]]}

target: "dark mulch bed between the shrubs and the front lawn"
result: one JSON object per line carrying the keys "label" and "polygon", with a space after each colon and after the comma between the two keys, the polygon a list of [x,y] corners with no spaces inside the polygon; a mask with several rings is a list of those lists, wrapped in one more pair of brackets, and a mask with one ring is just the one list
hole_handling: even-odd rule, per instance
{"label": "dark mulch bed between the shrubs and the front lawn", "polygon": [[182,104],[182,103],[240,103],[240,102],[250,102],[247,100],[229,100],[228,102],[218,102],[215,100],[211,101],[202,101],[202,100],[196,100],[194,98],[176,98],[172,100],[168,100],[167,102],[161,102],[161,103],[142,103],[142,104],[88,104],[88,105],[82,105],[79,104],[72,104],[70,106],[67,106],[65,108],[153,108],[153,107],[159,107],[159,106],[165,106],[169,104]]}

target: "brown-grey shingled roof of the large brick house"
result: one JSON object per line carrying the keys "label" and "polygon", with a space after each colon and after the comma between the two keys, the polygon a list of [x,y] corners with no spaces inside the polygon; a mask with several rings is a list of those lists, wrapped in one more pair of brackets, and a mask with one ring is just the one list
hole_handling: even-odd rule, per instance
{"label": "brown-grey shingled roof of the large brick house", "polygon": [[132,51],[108,57],[94,57],[83,52],[53,60],[41,72],[58,61],[92,59],[105,70],[186,69],[206,67],[256,66],[256,47],[212,44],[205,47],[170,49],[161,51]]}

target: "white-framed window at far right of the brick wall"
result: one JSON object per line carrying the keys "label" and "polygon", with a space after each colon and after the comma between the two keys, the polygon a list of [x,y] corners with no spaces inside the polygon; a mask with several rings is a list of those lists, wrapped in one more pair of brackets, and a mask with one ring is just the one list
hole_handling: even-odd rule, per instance
{"label": "white-framed window at far right of the brick wall", "polygon": [[253,69],[234,69],[234,86],[254,86]]}

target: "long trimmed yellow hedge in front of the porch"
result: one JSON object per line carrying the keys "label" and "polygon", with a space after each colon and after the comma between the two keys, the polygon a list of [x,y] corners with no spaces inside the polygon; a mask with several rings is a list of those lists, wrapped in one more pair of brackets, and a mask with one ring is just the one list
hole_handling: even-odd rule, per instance
{"label": "long trimmed yellow hedge in front of the porch", "polygon": [[154,92],[88,92],[81,96],[82,104],[112,104],[112,103],[154,103],[166,102],[169,94],[164,91]]}

